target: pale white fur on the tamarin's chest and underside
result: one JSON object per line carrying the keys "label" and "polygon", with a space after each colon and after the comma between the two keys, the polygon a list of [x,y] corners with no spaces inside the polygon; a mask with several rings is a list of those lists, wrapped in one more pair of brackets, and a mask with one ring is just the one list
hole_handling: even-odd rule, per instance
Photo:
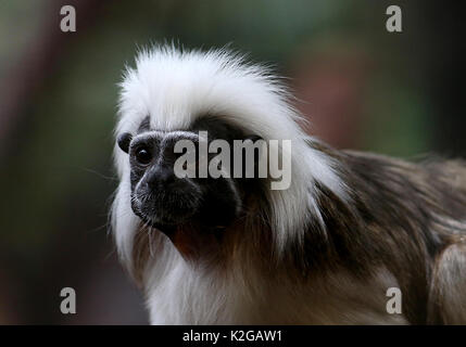
{"label": "pale white fur on the tamarin's chest and underside", "polygon": [[385,269],[367,281],[338,273],[297,287],[240,270],[214,277],[192,269],[175,252],[163,257],[165,266],[159,258],[148,269],[151,324],[407,323],[402,314],[386,310],[387,288],[398,283]]}

